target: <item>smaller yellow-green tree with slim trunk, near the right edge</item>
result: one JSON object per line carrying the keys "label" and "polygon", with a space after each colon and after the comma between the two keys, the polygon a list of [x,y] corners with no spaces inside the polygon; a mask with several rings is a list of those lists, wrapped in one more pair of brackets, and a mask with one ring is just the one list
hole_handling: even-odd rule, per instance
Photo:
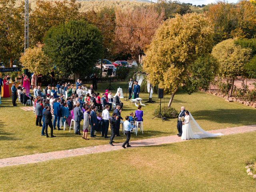
{"label": "smaller yellow-green tree with slim trunk, near the right edge", "polygon": [[219,75],[232,78],[229,96],[232,96],[236,76],[243,75],[244,66],[251,57],[252,49],[242,48],[234,44],[234,39],[227,39],[218,43],[212,49],[212,55],[219,63]]}

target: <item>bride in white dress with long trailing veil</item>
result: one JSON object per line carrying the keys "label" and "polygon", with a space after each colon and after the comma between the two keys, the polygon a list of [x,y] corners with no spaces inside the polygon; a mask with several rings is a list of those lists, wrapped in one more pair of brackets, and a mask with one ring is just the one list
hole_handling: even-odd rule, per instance
{"label": "bride in white dress with long trailing veil", "polygon": [[196,122],[188,111],[185,112],[184,122],[182,123],[182,140],[199,139],[205,137],[216,137],[222,135],[221,133],[211,134],[204,131]]}

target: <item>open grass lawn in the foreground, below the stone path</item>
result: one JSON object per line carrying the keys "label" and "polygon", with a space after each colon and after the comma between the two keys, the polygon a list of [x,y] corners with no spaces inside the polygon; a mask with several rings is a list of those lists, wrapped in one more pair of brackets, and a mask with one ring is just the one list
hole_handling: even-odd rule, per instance
{"label": "open grass lawn in the foreground, below the stone path", "polygon": [[[0,168],[8,192],[249,192],[256,132]],[[132,138],[133,139],[133,138]]]}

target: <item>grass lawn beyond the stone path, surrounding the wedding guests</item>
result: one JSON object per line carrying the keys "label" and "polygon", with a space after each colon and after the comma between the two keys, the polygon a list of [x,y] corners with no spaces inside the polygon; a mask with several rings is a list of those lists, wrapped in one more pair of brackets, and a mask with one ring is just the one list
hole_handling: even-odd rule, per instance
{"label": "grass lawn beyond the stone path, surrounding the wedding guests", "polygon": [[[100,93],[107,86],[108,83],[99,84]],[[124,82],[114,82],[113,86],[114,88],[120,86],[125,89],[126,84]],[[124,94],[126,94],[125,90]],[[147,93],[140,94],[140,97],[145,101],[148,100]],[[170,96],[166,96],[165,105],[168,104],[169,98]],[[177,133],[176,119],[166,122],[162,122],[160,119],[152,120],[152,112],[159,104],[156,95],[154,95],[153,100],[157,103],[147,104],[142,108],[144,111],[144,134],[139,132],[138,136],[132,135],[132,140]],[[130,101],[123,102],[123,117],[136,110],[136,107]],[[164,102],[162,104],[164,105]],[[228,103],[222,98],[203,92],[192,95],[178,92],[174,97],[173,106],[179,110],[180,106],[183,105],[192,112],[194,118],[205,130],[256,124],[256,119],[252,118],[256,114],[254,108],[236,102]],[[45,138],[40,135],[41,128],[35,126],[36,116],[32,112],[25,112],[20,109],[21,106],[19,104],[19,107],[12,107],[11,98],[2,98],[2,105],[0,105],[0,158],[108,144],[109,140],[101,137],[88,141],[82,140],[80,136],[74,135],[74,132],[68,132],[68,130],[54,130],[56,138]],[[122,142],[125,137],[115,138],[115,140],[116,142]]]}

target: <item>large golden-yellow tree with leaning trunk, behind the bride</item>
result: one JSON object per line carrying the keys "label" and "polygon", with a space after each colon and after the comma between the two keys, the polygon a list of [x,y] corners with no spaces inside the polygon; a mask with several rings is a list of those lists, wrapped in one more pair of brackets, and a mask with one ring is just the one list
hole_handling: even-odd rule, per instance
{"label": "large golden-yellow tree with leaning trunk, behind the bride", "polygon": [[[184,90],[191,94],[212,80],[210,73],[214,74],[215,67],[212,67],[214,62],[208,55],[212,44],[213,30],[202,14],[176,15],[158,28],[146,51],[143,68],[153,85],[158,84],[159,88],[172,94],[168,106],[171,106],[178,86],[182,83]],[[204,62],[208,64],[207,70]],[[200,71],[200,67],[203,70]],[[207,72],[206,76],[204,72]],[[199,84],[204,78],[207,78],[206,84]]]}

